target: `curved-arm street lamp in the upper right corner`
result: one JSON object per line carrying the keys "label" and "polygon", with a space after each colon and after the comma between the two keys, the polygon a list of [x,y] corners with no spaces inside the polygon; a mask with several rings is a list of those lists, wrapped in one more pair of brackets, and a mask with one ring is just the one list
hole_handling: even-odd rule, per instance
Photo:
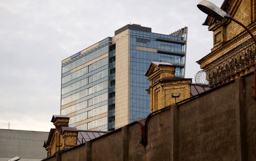
{"label": "curved-arm street lamp in the upper right corner", "polygon": [[[197,4],[197,7],[199,8],[199,10],[203,11],[204,13],[206,13],[207,15],[209,15],[211,17],[216,18],[217,20],[221,21],[221,20],[227,18],[227,19],[230,19],[230,20],[236,22],[237,24],[241,25],[250,34],[250,36],[252,36],[252,39],[256,46],[256,38],[255,38],[255,36],[253,36],[252,31],[250,31],[244,24],[237,21],[234,17],[231,17],[230,15],[228,15],[228,13],[221,10],[215,4],[213,4],[207,0],[202,0],[202,1],[200,1],[199,4]],[[253,97],[253,99],[256,99],[256,60],[255,60],[255,67],[254,67],[254,83],[253,83],[252,87],[254,88],[252,97]]]}

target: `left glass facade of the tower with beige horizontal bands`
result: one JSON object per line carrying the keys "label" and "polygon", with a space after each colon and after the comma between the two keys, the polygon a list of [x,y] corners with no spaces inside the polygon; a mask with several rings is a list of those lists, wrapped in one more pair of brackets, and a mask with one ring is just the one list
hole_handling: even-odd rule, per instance
{"label": "left glass facade of the tower with beige horizontal bands", "polygon": [[70,116],[70,127],[108,130],[110,41],[106,38],[62,63],[61,115]]}

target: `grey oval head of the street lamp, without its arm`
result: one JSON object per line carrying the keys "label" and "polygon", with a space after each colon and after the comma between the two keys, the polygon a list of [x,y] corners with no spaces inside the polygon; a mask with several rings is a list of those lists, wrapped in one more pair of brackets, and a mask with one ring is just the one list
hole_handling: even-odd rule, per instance
{"label": "grey oval head of the street lamp, without its arm", "polygon": [[199,10],[211,17],[216,18],[217,20],[223,20],[224,18],[230,17],[230,15],[210,1],[202,0],[199,4],[197,4],[197,7]]}

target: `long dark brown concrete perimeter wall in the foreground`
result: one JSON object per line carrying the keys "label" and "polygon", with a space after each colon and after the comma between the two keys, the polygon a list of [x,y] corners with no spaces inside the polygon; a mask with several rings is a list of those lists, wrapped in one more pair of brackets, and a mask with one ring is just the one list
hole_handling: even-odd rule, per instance
{"label": "long dark brown concrete perimeter wall in the foreground", "polygon": [[[255,160],[253,74],[45,160]],[[141,120],[144,125],[145,120]]]}

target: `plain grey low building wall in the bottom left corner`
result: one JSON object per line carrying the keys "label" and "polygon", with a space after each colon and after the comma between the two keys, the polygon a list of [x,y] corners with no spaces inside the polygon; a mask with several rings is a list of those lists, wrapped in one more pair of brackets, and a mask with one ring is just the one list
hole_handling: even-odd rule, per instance
{"label": "plain grey low building wall in the bottom left corner", "polygon": [[0,161],[19,156],[20,160],[42,160],[49,132],[0,129]]}

